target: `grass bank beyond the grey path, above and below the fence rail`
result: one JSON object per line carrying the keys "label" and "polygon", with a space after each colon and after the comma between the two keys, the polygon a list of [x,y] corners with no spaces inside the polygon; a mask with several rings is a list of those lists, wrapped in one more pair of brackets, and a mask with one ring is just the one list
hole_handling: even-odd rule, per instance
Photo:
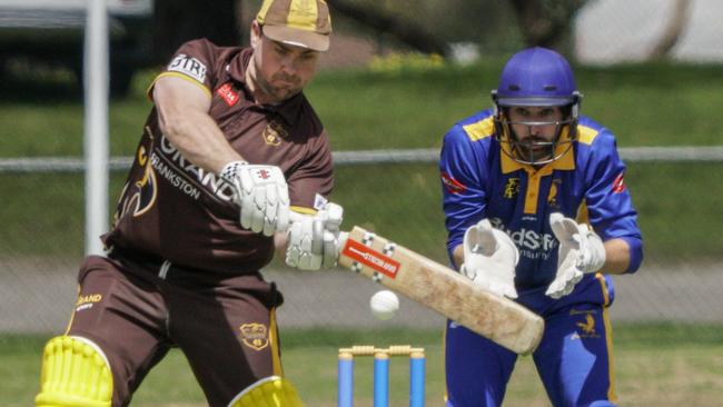
{"label": "grass bank beyond the grey path, above and below the fence rail", "polygon": [[[323,71],[307,91],[335,150],[438,148],[456,120],[488,107],[502,62],[472,67]],[[618,146],[721,145],[723,76],[714,64],[577,67],[583,112],[610,127]],[[127,99],[110,107],[110,149],[133,153],[150,102],[153,72],[135,79]],[[13,88],[14,87],[14,88]],[[10,91],[14,90],[12,93]],[[0,157],[81,156],[80,95],[62,83],[10,85],[0,99]],[[4,97],[7,96],[7,97]],[[628,163],[627,185],[641,214],[647,261],[717,261],[723,190],[721,163]],[[110,208],[125,175],[115,173]],[[71,256],[82,252],[82,175],[0,175],[0,255]],[[444,250],[436,169],[427,165],[338,168],[333,199],[346,225],[359,224],[438,260]],[[682,218],[684,221],[673,222]],[[42,239],[31,239],[42,236]]]}

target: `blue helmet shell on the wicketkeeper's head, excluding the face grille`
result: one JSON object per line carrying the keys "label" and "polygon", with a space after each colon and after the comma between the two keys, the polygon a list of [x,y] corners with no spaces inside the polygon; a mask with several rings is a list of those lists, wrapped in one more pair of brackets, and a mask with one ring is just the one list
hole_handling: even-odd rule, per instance
{"label": "blue helmet shell on the wicketkeeper's head, excluding the face grille", "polygon": [[567,60],[553,50],[535,47],[509,58],[493,100],[499,107],[568,106],[580,100],[580,93]]}

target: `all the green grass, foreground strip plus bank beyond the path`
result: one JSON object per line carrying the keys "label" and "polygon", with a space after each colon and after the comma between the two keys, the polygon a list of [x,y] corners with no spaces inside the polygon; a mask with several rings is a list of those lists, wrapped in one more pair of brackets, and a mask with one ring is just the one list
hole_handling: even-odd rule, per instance
{"label": "all the green grass, foreground strip plus bank beyond the path", "polygon": [[[453,122],[488,106],[499,68],[499,61],[484,61],[467,68],[320,72],[307,95],[335,150],[438,148]],[[720,66],[578,67],[576,72],[586,97],[583,112],[608,126],[621,147],[722,145]],[[131,97],[111,103],[113,156],[130,156],[136,148],[150,107],[143,89],[151,77],[152,72],[138,76]],[[81,156],[82,106],[70,89],[62,82],[3,83],[0,122],[9,126],[0,137],[0,157]],[[641,214],[645,261],[721,261],[721,173],[722,163],[628,163],[626,183]],[[110,208],[123,178],[120,172],[111,177]],[[0,173],[0,265],[33,256],[80,260],[82,175]],[[445,261],[435,166],[338,168],[333,199],[346,208],[345,225],[375,229]],[[31,405],[46,339],[0,336],[0,406]],[[284,360],[307,405],[325,407],[335,405],[338,347],[424,346],[428,405],[438,406],[444,393],[439,339],[437,331],[288,331]],[[723,399],[723,326],[621,325],[615,356],[621,406],[716,406]],[[393,406],[403,406],[406,363],[395,361]],[[358,405],[368,406],[370,363],[359,365]],[[151,373],[133,403],[204,405],[180,353],[171,353]],[[518,364],[505,405],[548,405],[529,358]]]}

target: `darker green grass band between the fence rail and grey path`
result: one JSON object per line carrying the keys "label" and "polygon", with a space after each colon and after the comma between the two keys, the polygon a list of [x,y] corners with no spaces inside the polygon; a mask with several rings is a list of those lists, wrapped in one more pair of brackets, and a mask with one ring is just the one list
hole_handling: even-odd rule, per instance
{"label": "darker green grass band between the fence rail and grey path", "polygon": [[[723,185],[717,179],[721,167],[628,165],[626,181],[641,214],[646,261],[720,261],[723,235],[713,219],[720,219],[723,207]],[[446,261],[446,232],[434,165],[340,167],[336,176],[334,200],[345,208],[345,225],[376,230],[437,261]],[[115,208],[123,180],[123,173],[113,173],[110,208]],[[22,197],[7,200],[0,212],[4,225],[0,229],[0,255],[81,257],[82,175],[0,175],[0,185]],[[40,185],[44,189],[40,190]],[[683,220],[674,221],[677,217]]]}

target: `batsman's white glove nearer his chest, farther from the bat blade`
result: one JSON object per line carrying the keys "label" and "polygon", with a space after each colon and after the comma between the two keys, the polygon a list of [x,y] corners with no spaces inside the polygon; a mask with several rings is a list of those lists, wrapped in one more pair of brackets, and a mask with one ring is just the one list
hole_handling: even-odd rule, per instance
{"label": "batsman's white glove nearer his chest, farther from the bat blade", "polygon": [[231,161],[220,176],[234,187],[242,228],[265,236],[288,229],[289,190],[280,168]]}

